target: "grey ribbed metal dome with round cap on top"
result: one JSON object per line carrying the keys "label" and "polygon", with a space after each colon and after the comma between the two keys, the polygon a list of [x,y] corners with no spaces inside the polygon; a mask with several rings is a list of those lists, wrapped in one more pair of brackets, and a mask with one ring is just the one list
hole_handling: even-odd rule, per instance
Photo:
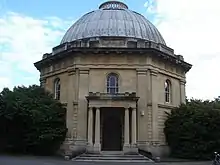
{"label": "grey ribbed metal dome with round cap on top", "polygon": [[118,1],[108,1],[83,15],[64,35],[61,44],[100,37],[142,39],[166,45],[157,28],[143,15]]}

